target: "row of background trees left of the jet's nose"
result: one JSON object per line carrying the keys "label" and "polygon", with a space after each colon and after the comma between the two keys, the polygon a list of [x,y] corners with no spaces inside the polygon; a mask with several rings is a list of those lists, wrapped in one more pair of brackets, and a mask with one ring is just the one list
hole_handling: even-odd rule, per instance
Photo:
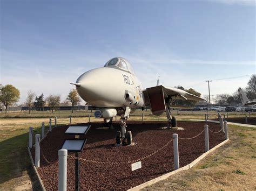
{"label": "row of background trees left of the jet's nose", "polygon": [[[19,100],[19,90],[12,86],[11,84],[7,84],[6,86],[2,87],[0,84],[0,102],[5,107],[5,114],[7,112],[7,108],[10,105],[14,105],[15,103],[18,102]],[[72,105],[72,113],[73,113],[73,108],[75,105],[80,103],[80,98],[79,95],[76,91],[76,89],[71,89],[69,94],[66,97],[66,101],[68,103],[71,103]],[[49,95],[44,99],[44,95],[41,94],[39,96],[36,96],[36,94],[29,90],[28,94],[26,96],[26,101],[25,101],[26,107],[29,108],[29,114],[31,111],[32,107],[35,108],[43,108],[46,105],[48,105],[53,113],[53,110],[58,109],[60,105],[60,95]]]}

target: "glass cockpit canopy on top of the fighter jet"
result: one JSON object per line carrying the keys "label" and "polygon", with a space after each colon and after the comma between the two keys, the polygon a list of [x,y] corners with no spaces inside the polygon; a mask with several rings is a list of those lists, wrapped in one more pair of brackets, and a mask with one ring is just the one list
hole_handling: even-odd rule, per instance
{"label": "glass cockpit canopy on top of the fighter jet", "polygon": [[126,72],[134,74],[131,64],[127,60],[121,57],[110,59],[109,61],[106,62],[104,67],[122,69],[122,70],[125,70]]}

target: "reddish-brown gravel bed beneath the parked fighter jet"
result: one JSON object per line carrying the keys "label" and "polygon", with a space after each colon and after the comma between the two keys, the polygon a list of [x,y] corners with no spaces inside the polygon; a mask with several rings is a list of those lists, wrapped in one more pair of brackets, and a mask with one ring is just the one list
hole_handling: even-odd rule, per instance
{"label": "reddish-brown gravel bed beneath the parked fighter jet", "polygon": [[[173,133],[181,138],[190,138],[198,135],[204,129],[204,122],[178,122],[177,126],[185,130],[162,130],[166,122],[140,122],[128,121],[127,130],[132,131],[135,146],[115,147],[116,131],[119,124],[114,123],[113,130],[96,130],[103,123],[91,123],[91,129],[86,135],[87,143],[80,158],[95,161],[130,161],[142,158],[164,146]],[[219,124],[207,123],[212,131],[219,131]],[[58,150],[64,139],[74,138],[64,134],[68,125],[55,128],[41,143],[46,159],[52,161],[48,164],[41,156],[41,167],[38,172],[43,180],[46,190],[58,189]],[[224,141],[224,133],[209,132],[210,148]],[[183,167],[205,152],[204,133],[190,140],[179,139],[179,162]],[[32,150],[35,156],[34,148]],[[75,156],[75,153],[69,153]],[[80,162],[80,189],[81,190],[113,190],[129,189],[160,175],[173,171],[173,143],[152,157],[142,160],[142,168],[131,171],[131,164],[102,165],[91,162]],[[68,190],[75,189],[75,159],[68,157]]]}

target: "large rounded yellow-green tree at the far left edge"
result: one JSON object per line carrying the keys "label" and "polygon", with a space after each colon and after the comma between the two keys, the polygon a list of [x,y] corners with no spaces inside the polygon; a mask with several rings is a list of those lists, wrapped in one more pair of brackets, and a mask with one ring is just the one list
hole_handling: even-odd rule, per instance
{"label": "large rounded yellow-green tree at the far left edge", "polygon": [[14,86],[7,84],[6,86],[2,87],[0,95],[0,101],[5,106],[5,114],[7,112],[8,105],[15,104],[19,100],[19,90]]}

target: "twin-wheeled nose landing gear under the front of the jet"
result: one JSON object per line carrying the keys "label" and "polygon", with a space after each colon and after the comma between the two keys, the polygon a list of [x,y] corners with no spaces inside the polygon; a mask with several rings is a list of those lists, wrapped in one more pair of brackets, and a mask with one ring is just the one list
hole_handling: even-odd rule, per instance
{"label": "twin-wheeled nose landing gear under the front of the jet", "polygon": [[117,145],[131,145],[132,144],[132,132],[126,131],[126,117],[121,118],[121,131],[117,131],[116,142]]}

